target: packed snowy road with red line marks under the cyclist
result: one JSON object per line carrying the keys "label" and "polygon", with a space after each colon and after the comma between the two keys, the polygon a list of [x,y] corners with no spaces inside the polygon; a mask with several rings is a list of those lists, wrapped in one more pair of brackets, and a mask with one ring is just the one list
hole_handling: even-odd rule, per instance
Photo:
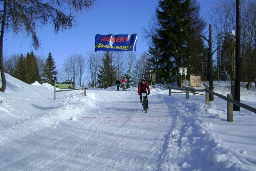
{"label": "packed snowy road with red line marks under the cyclist", "polygon": [[81,105],[83,102],[76,106],[76,100],[65,97],[74,96],[74,91],[60,93],[63,98],[57,94],[56,105],[67,103],[68,109],[54,109],[56,116],[49,117],[61,117],[63,112],[73,115],[69,109],[77,111],[76,107],[80,116],[75,120],[56,119],[58,124],[36,132],[28,127],[28,136],[5,148],[1,170],[156,170],[163,166],[161,155],[169,138],[165,135],[177,126],[173,125],[177,117],[169,115],[168,106],[159,96],[149,95],[145,113],[139,96],[131,90],[87,91],[93,108],[86,107],[87,103]]}

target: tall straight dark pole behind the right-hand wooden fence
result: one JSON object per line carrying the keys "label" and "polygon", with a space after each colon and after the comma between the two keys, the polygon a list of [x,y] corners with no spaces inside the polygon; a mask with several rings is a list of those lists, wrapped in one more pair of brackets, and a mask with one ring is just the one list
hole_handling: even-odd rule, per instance
{"label": "tall straight dark pole behind the right-hand wooden fence", "polygon": [[[240,82],[241,82],[241,3],[240,0],[236,0],[236,76],[235,76],[235,97],[234,100],[240,102]],[[234,105],[233,107],[234,111],[240,111],[240,107],[237,105]]]}

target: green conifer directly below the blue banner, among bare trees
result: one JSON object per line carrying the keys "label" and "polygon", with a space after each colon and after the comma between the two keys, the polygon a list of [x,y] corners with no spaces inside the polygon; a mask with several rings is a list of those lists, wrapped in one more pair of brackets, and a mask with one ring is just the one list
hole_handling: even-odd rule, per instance
{"label": "green conifer directly below the blue banner, among bare trees", "polygon": [[98,83],[99,88],[107,88],[115,85],[115,75],[116,70],[113,66],[112,56],[110,55],[109,51],[104,52],[104,58],[102,58],[103,66],[99,66],[99,74],[98,75]]}

